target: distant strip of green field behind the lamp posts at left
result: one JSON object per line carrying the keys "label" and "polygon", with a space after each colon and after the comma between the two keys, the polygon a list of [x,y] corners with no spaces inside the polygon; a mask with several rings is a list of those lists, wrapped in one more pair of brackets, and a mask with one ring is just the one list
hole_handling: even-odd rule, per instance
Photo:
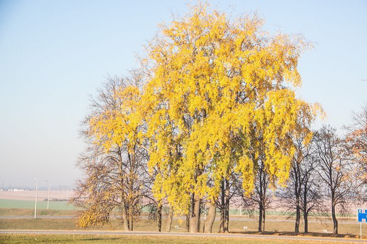
{"label": "distant strip of green field behind the lamp posts at left", "polygon": [[[28,208],[34,209],[34,201],[0,199],[0,208]],[[47,209],[47,201],[38,201],[37,209]],[[77,208],[66,201],[50,201],[49,209],[76,210]]]}

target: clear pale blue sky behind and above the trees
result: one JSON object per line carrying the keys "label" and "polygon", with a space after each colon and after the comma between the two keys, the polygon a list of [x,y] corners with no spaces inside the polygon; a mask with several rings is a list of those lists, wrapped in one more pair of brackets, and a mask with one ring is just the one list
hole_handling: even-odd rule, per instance
{"label": "clear pale blue sky behind and above the trees", "polygon": [[[187,1],[1,1],[0,184],[72,185],[88,94],[107,74],[136,67],[136,54]],[[212,1],[264,29],[314,42],[299,63],[298,93],[320,102],[322,123],[348,124],[367,101],[367,1]],[[318,123],[320,125],[320,123]],[[316,126],[317,127],[317,126]],[[1,186],[1,185],[0,185]]]}

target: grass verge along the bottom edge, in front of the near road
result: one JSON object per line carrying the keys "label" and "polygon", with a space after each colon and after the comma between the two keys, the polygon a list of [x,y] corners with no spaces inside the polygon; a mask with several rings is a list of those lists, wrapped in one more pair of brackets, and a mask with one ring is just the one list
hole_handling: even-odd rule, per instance
{"label": "grass verge along the bottom edge, in front of the near road", "polygon": [[[260,238],[236,238],[236,237],[199,237],[199,236],[139,236],[139,235],[98,235],[98,234],[2,234],[1,243],[276,243],[295,244],[298,240],[277,240]],[[302,241],[305,244],[313,244],[314,241]],[[335,243],[318,241],[317,243]]]}

